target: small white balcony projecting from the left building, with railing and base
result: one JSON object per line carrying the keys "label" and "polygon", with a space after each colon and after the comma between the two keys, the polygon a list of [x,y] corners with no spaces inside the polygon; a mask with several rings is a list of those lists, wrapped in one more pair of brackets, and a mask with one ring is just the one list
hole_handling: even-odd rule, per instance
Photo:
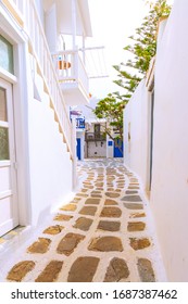
{"label": "small white balcony projecting from the left building, with railing and base", "polygon": [[89,79],[78,50],[60,51],[52,60],[66,104],[87,104]]}

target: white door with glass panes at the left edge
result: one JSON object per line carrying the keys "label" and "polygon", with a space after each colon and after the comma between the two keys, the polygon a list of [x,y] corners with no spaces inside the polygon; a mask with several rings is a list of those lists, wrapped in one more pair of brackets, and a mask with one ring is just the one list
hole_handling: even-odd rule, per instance
{"label": "white door with glass panes at the left edge", "polygon": [[12,85],[0,78],[0,236],[18,225]]}

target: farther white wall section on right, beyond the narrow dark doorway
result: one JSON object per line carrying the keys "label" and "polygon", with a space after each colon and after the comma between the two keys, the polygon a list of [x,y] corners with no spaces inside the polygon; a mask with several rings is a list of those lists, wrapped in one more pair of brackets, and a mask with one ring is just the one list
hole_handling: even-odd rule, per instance
{"label": "farther white wall section on right, beyond the narrow dark doorway", "polygon": [[148,182],[149,96],[142,80],[124,110],[124,162],[141,177],[145,189]]}

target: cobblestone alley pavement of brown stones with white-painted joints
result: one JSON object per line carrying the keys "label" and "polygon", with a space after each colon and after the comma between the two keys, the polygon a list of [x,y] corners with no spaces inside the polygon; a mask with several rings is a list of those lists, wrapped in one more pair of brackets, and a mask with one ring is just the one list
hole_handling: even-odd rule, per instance
{"label": "cobblestone alley pavement of brown stones with white-painted joints", "polygon": [[[79,191],[24,245],[1,281],[153,282],[165,275],[148,202],[122,160],[78,164]],[[16,249],[16,250],[15,250]]]}

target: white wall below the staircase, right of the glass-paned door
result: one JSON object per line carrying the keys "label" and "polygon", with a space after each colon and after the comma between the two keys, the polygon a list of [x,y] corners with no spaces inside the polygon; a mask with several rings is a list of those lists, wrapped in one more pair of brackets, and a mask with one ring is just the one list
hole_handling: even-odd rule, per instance
{"label": "white wall below the staircase, right of the glass-paned door", "polygon": [[73,168],[40,76],[36,75],[35,80],[41,101],[34,98],[32,78],[28,80],[30,220],[36,225],[71,193]]}

